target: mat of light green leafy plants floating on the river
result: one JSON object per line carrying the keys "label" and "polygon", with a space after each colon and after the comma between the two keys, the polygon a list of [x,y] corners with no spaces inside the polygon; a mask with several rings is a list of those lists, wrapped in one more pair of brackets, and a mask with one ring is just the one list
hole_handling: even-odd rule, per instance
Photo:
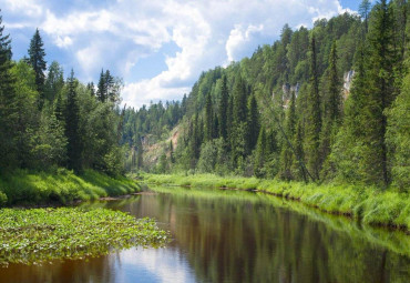
{"label": "mat of light green leafy plants floating on the river", "polygon": [[0,264],[98,256],[135,245],[161,247],[168,234],[151,219],[106,209],[0,210]]}

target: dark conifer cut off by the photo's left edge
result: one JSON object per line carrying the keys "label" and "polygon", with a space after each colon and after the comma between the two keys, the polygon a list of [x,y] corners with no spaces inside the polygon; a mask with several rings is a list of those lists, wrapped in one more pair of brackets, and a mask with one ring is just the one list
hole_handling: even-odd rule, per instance
{"label": "dark conifer cut off by the photo's left edge", "polygon": [[9,34],[3,33],[4,26],[1,23],[0,16],[0,169],[4,169],[16,161],[13,125],[17,119],[17,107],[14,79],[11,74],[11,40]]}

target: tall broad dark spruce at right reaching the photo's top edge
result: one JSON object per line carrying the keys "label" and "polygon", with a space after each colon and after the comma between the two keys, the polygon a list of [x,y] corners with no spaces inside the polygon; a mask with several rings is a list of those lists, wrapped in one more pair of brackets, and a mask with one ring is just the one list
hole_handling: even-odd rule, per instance
{"label": "tall broad dark spruce at right reaching the photo's top edge", "polygon": [[393,70],[398,63],[394,49],[393,14],[387,0],[375,6],[373,18],[369,28],[368,69],[369,97],[367,103],[367,137],[368,155],[367,171],[375,182],[389,183],[388,155],[386,145],[387,119],[383,111],[390,107],[398,90],[394,88]]}

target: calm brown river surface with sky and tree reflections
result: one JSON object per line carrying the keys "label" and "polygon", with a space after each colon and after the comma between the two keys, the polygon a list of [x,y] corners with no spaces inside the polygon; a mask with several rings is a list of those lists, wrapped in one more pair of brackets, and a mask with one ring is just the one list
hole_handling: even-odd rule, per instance
{"label": "calm brown river surface with sky and tree reflections", "polygon": [[0,282],[410,282],[410,240],[253,192],[152,188],[86,206],[155,218],[163,249],[0,267]]}

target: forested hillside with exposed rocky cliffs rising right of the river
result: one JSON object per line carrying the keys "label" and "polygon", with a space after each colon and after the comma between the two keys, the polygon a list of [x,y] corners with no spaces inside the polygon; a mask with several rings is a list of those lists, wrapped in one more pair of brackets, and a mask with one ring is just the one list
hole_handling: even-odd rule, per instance
{"label": "forested hillside with exposed rocky cliffs rising right of the river", "polygon": [[359,16],[285,24],[271,46],[204,72],[182,102],[129,109],[129,168],[408,190],[408,11],[363,0]]}

